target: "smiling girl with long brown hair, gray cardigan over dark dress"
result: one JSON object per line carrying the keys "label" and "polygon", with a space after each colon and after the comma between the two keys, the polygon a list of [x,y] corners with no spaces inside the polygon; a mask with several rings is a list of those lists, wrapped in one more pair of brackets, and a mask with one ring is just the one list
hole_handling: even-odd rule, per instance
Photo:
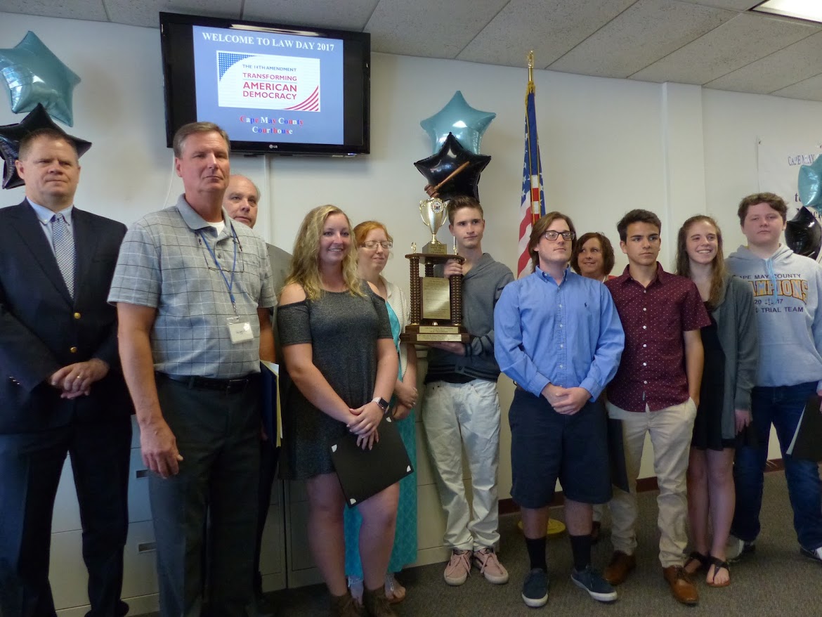
{"label": "smiling girl with long brown hair, gray cardigan over dark dress", "polygon": [[685,569],[689,574],[705,570],[709,586],[726,587],[731,583],[725,545],[734,509],[734,447],[737,434],[750,424],[759,358],[753,291],[725,269],[722,232],[710,216],[692,216],[679,230],[677,274],[694,281],[711,318],[701,331],[704,370],[687,475],[694,550]]}

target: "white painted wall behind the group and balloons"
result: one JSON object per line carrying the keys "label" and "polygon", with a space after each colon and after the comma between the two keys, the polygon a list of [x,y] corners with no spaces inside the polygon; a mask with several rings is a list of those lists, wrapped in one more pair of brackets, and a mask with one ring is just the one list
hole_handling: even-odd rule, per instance
{"label": "white painted wall behind the group and balloons", "polygon": [[[94,146],[81,161],[77,205],[128,224],[173,202],[182,185],[165,147],[159,30],[0,13],[0,47],[13,47],[26,30],[83,80],[68,131]],[[699,86],[547,71],[534,72],[534,78],[548,206],[570,214],[580,233],[600,230],[615,244],[615,224],[625,211],[657,211],[666,266],[679,223],[695,213],[717,216],[727,246],[739,244],[736,204],[758,189],[756,137],[795,136],[804,142],[822,113],[820,103]],[[412,242],[426,241],[418,215],[425,181],[412,164],[431,151],[418,123],[462,90],[469,104],[497,114],[483,138],[483,153],[493,157],[480,182],[487,219],[483,248],[515,269],[526,80],[525,68],[373,54],[371,155],[233,156],[233,170],[262,188],[257,230],[290,248],[304,213],[326,202],[343,207],[355,224],[383,220],[396,243],[386,276],[407,288],[402,255]],[[0,124],[22,117],[0,102]],[[0,202],[16,203],[22,196],[22,188],[12,189],[0,194]],[[447,240],[447,230],[441,239]],[[625,263],[618,255],[617,269]],[[503,409],[511,392],[504,378]],[[507,497],[506,421],[503,429],[501,497]],[[646,455],[643,476],[653,474],[647,461]]]}

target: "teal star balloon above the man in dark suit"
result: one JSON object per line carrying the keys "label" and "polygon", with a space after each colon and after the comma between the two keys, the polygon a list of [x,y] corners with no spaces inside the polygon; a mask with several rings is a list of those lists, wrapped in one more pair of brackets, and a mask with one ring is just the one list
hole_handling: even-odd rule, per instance
{"label": "teal star balloon above the man in dark suit", "polygon": [[22,114],[43,104],[48,114],[74,126],[72,90],[80,77],[29,30],[12,49],[0,49],[0,76],[8,87],[12,112]]}

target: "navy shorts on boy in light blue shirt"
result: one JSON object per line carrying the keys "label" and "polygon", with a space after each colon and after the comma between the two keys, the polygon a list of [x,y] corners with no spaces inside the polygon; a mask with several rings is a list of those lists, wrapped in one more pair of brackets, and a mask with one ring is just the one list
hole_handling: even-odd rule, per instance
{"label": "navy shorts on boy in light blue shirt", "polygon": [[508,411],[511,427],[511,497],[522,508],[544,508],[560,480],[566,498],[580,503],[611,499],[607,414],[588,401],[574,415],[554,411],[545,397],[517,388]]}

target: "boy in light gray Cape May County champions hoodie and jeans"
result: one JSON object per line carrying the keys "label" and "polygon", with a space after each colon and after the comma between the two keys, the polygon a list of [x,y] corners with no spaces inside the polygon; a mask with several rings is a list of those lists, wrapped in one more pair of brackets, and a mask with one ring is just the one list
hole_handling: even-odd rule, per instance
{"label": "boy in light gray Cape May County champions hoodie and jeans", "polygon": [[760,362],[751,413],[758,443],[737,448],[737,507],[728,557],[738,559],[755,550],[762,475],[774,424],[801,554],[822,562],[819,468],[816,462],[786,453],[806,402],[815,392],[822,393],[822,267],[779,244],[787,218],[782,197],[750,195],[741,201],[737,214],[748,245],[727,258],[727,267],[754,290]]}

